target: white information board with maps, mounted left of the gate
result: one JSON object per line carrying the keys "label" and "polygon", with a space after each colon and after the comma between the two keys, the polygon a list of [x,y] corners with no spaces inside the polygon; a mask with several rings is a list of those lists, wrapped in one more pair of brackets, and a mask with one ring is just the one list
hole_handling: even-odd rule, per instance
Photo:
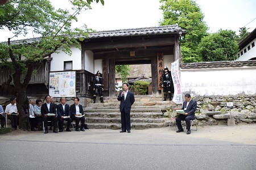
{"label": "white information board with maps, mounted left of the gate", "polygon": [[49,73],[49,95],[53,97],[76,97],[76,71]]}

